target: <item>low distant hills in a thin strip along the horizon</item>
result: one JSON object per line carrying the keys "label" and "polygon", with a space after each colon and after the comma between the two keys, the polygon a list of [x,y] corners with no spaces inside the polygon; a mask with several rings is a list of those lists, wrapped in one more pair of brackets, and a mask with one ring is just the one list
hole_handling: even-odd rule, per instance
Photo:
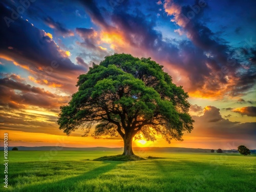
{"label": "low distant hills in a thin strip along the horizon", "polygon": [[[9,151],[12,147],[8,147]],[[61,151],[123,151],[123,147],[61,147],[61,146],[16,146],[18,151],[50,151],[53,148]],[[151,152],[194,152],[194,153],[210,153],[209,148],[184,148],[184,147],[133,147],[136,151],[151,151]],[[0,147],[0,151],[4,151],[4,147]],[[215,150],[216,151],[216,150]],[[250,150],[251,153],[256,153],[256,150]],[[224,153],[238,153],[237,150],[223,150]]]}

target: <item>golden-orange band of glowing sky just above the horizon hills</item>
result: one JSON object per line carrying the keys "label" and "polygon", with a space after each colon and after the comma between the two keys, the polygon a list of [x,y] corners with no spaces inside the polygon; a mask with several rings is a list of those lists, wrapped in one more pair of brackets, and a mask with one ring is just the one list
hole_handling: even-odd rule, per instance
{"label": "golden-orange band of glowing sky just above the horizon hills", "polygon": [[[63,146],[63,147],[123,147],[123,140],[120,139],[94,139],[93,137],[78,137],[67,135],[53,135],[46,133],[31,133],[12,130],[1,130],[1,134],[8,133],[9,146]],[[141,144],[133,141],[133,147],[185,147],[185,148],[236,148],[241,140],[220,139],[215,141],[210,137],[193,137],[184,135],[184,141],[172,141],[168,144],[163,138],[157,138],[156,141],[147,141]],[[250,147],[250,146],[248,146]]]}

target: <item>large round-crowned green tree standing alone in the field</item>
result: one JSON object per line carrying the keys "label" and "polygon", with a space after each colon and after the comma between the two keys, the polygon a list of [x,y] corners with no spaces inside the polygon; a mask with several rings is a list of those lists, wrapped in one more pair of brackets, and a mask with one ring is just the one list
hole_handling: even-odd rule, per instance
{"label": "large round-crowned green tree standing alone in the field", "polygon": [[134,155],[134,137],[154,141],[160,134],[170,143],[193,130],[188,94],[151,58],[106,56],[80,75],[76,86],[78,91],[60,107],[58,117],[59,129],[67,135],[81,127],[88,136],[95,124],[93,137],[119,134],[123,155]]}

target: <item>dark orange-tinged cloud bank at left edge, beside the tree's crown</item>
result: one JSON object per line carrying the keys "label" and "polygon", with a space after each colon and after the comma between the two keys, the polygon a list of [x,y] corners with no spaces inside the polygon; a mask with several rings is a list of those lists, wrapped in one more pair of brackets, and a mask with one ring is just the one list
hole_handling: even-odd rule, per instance
{"label": "dark orange-tinged cloud bank at left edge, beside the tree's crown", "polygon": [[[0,105],[4,108],[25,109],[30,105],[46,109],[59,109],[69,96],[59,96],[42,88],[31,86],[15,74],[0,78]],[[2,109],[3,110],[3,109]]]}

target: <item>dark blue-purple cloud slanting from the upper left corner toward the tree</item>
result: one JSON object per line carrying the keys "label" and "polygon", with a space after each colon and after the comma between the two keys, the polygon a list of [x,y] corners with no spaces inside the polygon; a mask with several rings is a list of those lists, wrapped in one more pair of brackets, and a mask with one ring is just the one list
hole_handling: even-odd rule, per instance
{"label": "dark blue-purple cloud slanting from the upper left corner toward the tree", "polygon": [[[59,71],[83,71],[82,66],[74,63],[64,55],[46,33],[18,17],[13,20],[8,27],[5,17],[11,17],[11,10],[0,4],[1,31],[0,31],[0,51],[2,54],[23,61],[28,67],[47,67],[51,66],[52,61],[59,63]],[[9,48],[12,49],[9,49]]]}

